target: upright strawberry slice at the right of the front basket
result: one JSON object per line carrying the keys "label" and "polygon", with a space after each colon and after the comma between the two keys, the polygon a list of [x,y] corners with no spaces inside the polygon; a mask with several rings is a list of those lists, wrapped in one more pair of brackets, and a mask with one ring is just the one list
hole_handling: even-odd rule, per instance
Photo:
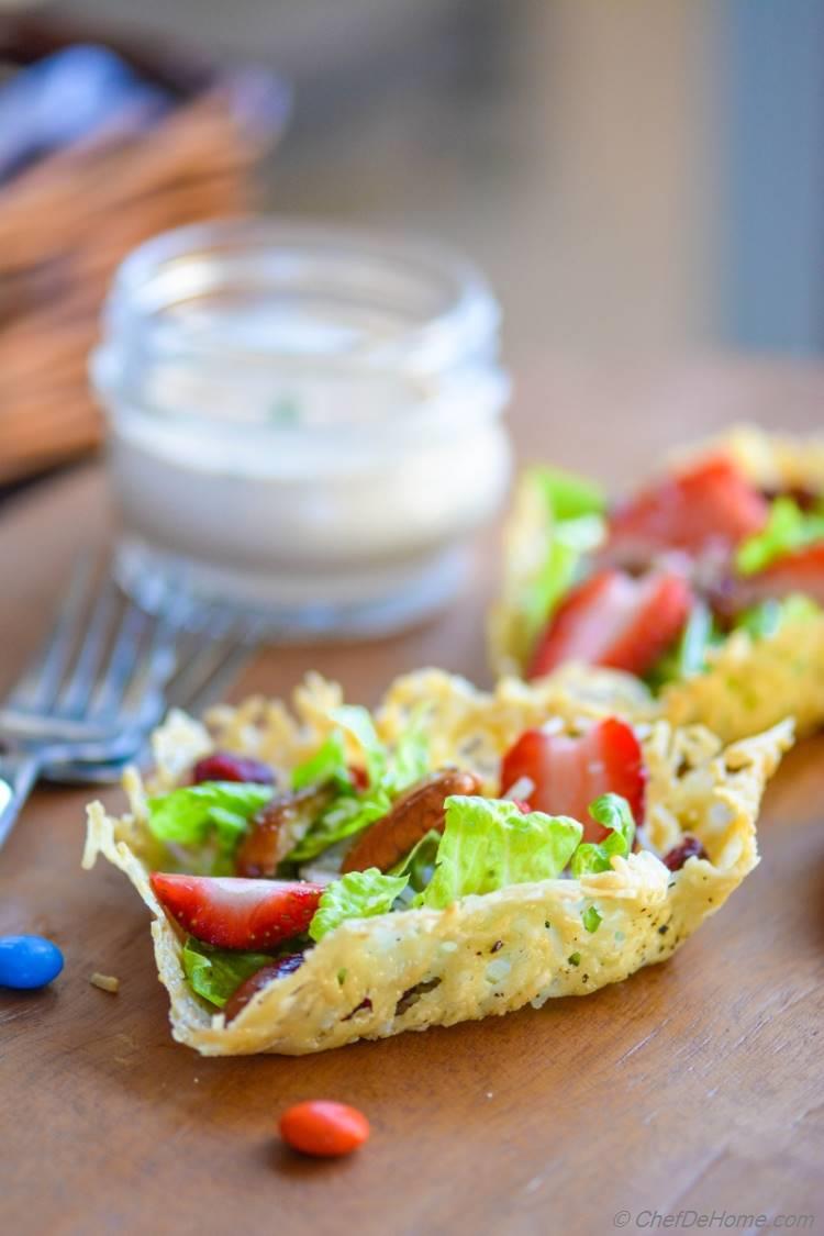
{"label": "upright strawberry slice at the right of the front basket", "polygon": [[[602,794],[620,794],[636,823],[644,818],[646,772],[641,745],[630,726],[615,717],[598,722],[581,738],[528,729],[510,747],[500,768],[500,789],[528,779],[534,789],[526,801],[532,811],[572,816],[583,826],[583,839],[600,842],[609,829],[587,808]],[[519,795],[524,797],[519,790]]]}

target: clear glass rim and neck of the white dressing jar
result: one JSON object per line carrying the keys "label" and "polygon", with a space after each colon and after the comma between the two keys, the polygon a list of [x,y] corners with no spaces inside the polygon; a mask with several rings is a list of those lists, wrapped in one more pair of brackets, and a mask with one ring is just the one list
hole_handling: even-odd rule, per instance
{"label": "clear glass rim and neck of the white dressing jar", "polygon": [[342,381],[362,391],[366,381],[372,392],[400,382],[413,400],[400,423],[367,418],[361,405],[351,415],[336,409],[336,434],[377,441],[499,414],[509,392],[499,320],[481,272],[436,241],[279,216],[216,220],[163,232],[125,258],[90,372],[112,418],[128,410],[266,440],[332,429],[322,417],[273,420],[253,403],[225,418],[210,413],[209,400],[175,402],[185,382],[172,381],[174,394],[159,396],[163,378],[154,377],[203,370],[214,391],[238,373],[254,388],[271,377],[315,389]]}

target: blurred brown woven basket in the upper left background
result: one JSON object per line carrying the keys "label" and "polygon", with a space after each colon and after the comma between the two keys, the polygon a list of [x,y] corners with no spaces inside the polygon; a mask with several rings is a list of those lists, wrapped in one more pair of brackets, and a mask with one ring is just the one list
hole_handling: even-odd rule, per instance
{"label": "blurred brown woven basket in the upper left background", "polygon": [[100,444],[86,358],[116,266],[159,231],[252,209],[252,169],[288,111],[257,68],[221,72],[43,10],[0,16],[0,62],[74,42],[111,47],[179,101],[148,130],[121,115],[0,185],[0,483]]}

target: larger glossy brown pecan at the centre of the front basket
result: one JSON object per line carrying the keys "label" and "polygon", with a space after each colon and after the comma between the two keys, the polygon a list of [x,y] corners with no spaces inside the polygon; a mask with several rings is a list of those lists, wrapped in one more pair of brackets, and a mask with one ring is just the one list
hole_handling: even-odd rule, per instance
{"label": "larger glossy brown pecan at the centre of the front basket", "polygon": [[479,792],[481,781],[472,772],[461,769],[431,772],[410,786],[385,816],[361,833],[343,859],[341,873],[366,871],[368,866],[388,871],[431,828],[444,832],[444,802],[450,795]]}

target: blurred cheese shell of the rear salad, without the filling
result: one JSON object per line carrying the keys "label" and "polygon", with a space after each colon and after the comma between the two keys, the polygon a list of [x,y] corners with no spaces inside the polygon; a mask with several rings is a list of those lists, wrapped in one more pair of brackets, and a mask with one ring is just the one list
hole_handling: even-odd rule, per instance
{"label": "blurred cheese shell of the rear salad, without the filling", "polygon": [[[762,492],[807,492],[824,497],[824,438],[794,439],[741,426],[679,452],[681,465],[723,454]],[[489,655],[500,675],[524,674],[532,632],[523,597],[542,570],[553,527],[546,502],[525,473],[504,533],[502,595],[489,616]],[[788,618],[759,634],[734,630],[707,653],[707,667],[666,684],[655,696],[642,681],[600,670],[602,684],[626,716],[666,718],[673,726],[700,723],[725,742],[793,717],[799,733],[824,723],[824,612]],[[573,665],[556,671],[558,690],[588,681]]]}

